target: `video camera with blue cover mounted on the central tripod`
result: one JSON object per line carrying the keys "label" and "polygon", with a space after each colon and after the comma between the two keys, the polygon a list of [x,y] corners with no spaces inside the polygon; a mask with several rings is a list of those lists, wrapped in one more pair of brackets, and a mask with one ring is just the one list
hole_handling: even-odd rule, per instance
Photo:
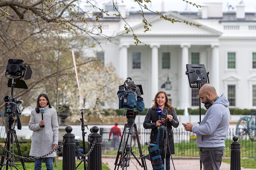
{"label": "video camera with blue cover mounted on the central tripod", "polygon": [[[135,85],[130,77],[124,81],[124,85],[119,86],[117,95],[119,98],[119,109],[127,110],[127,118],[130,115],[138,114],[145,108],[145,104],[141,95],[143,94],[142,86]],[[136,111],[137,110],[137,111]]]}

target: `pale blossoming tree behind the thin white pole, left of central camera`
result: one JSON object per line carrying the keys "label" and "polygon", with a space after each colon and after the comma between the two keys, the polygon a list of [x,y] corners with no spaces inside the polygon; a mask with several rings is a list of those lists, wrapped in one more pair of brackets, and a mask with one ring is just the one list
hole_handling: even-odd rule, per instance
{"label": "pale blossoming tree behind the thin white pole, left of central camera", "polygon": [[[90,62],[79,67],[78,74],[79,77],[82,75],[79,78],[82,103],[89,108],[89,114],[86,114],[103,118],[103,108],[113,108],[118,105],[117,90],[124,80],[118,78],[112,64],[103,66],[101,62]],[[81,107],[81,103],[73,101],[71,105],[72,111],[78,113],[77,108]],[[110,115],[115,115],[114,110],[110,109],[108,112]],[[78,117],[79,114],[74,114],[70,119],[75,121]]]}

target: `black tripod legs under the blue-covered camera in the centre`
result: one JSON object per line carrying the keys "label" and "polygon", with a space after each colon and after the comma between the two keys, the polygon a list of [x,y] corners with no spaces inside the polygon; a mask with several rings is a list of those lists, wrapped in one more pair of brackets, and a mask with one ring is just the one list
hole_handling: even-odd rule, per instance
{"label": "black tripod legs under the blue-covered camera in the centre", "polygon": [[[134,152],[132,151],[132,132],[133,132],[133,130],[135,130],[136,139],[137,139],[137,143],[138,143],[138,147],[139,147],[140,157],[143,156],[142,151],[141,151],[141,144],[139,142],[139,135],[138,135],[138,131],[137,131],[137,125],[135,124],[135,117],[136,117],[137,114],[138,114],[138,112],[135,111],[135,110],[127,110],[126,117],[127,117],[128,120],[127,120],[127,123],[124,125],[124,132],[122,134],[122,138],[121,138],[121,141],[120,141],[120,144],[119,144],[119,149],[117,151],[117,157],[115,159],[115,170],[116,170],[116,168],[118,170],[119,166],[122,167],[122,170],[124,170],[124,169],[127,170],[127,167],[130,165],[130,156],[131,156],[131,154],[133,155],[133,157],[135,157],[139,166],[143,167],[144,170],[147,170],[147,165],[146,165],[146,162],[145,162],[145,158],[141,159],[141,163],[142,163],[141,164],[139,159],[135,156]],[[128,132],[128,134],[127,134],[127,132]],[[126,137],[126,134],[127,134],[127,137]],[[129,141],[129,145],[128,145],[129,136],[130,136],[130,141]],[[122,150],[120,150],[121,144],[123,144]],[[121,155],[121,157],[119,159],[120,155]],[[119,160],[119,162],[118,162],[118,160]]]}

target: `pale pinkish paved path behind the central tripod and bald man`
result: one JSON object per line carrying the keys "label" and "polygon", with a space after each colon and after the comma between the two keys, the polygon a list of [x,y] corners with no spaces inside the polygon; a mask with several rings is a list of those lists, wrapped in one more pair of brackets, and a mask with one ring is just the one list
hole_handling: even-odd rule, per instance
{"label": "pale pinkish paved path behind the central tripod and bald man", "polygon": [[[105,157],[102,156],[102,163],[106,164],[111,170],[115,169],[115,157]],[[199,158],[176,158],[173,157],[173,163],[171,162],[171,170],[200,170],[200,159]],[[149,160],[146,160],[147,168],[148,170],[152,170],[151,162]],[[121,167],[119,167],[119,170],[121,170]],[[130,166],[127,167],[127,170],[144,170],[144,168],[141,168],[139,164],[137,163],[136,159],[131,157]],[[220,170],[230,170],[230,164],[222,162]],[[256,170],[256,169],[248,169],[248,168],[242,168],[241,170]]]}

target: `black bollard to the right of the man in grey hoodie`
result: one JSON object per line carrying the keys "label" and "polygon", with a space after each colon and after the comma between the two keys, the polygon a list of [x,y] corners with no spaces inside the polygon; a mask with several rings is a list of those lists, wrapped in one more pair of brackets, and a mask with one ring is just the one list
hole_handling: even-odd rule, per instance
{"label": "black bollard to the right of the man in grey hoodie", "polygon": [[241,160],[240,160],[240,143],[237,142],[238,136],[233,136],[233,142],[231,143],[231,161],[230,170],[241,170]]}

